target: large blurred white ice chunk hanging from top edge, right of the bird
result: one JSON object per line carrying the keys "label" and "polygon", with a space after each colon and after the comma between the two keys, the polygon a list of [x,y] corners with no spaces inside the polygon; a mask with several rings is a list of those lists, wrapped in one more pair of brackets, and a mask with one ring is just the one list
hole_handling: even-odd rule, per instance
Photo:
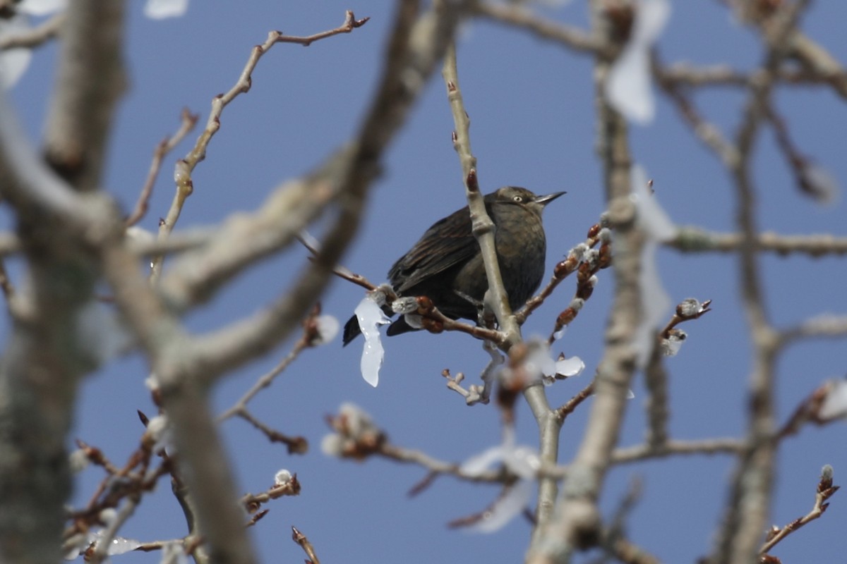
{"label": "large blurred white ice chunk hanging from top edge, right of the bird", "polygon": [[667,0],[640,0],[634,10],[629,41],[606,79],[606,98],[625,118],[645,124],[656,114],[650,87],[650,49],[665,27],[671,5]]}

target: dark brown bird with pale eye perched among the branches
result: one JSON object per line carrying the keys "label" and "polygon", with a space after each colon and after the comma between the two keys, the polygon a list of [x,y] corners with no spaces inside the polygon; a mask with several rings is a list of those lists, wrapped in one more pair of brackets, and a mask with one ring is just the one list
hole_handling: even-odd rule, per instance
{"label": "dark brown bird with pale eye perched among the branches", "polygon": [[[505,186],[484,196],[485,211],[496,227],[497,260],[512,309],[526,303],[541,284],[547,247],[541,212],[562,194],[565,192],[536,195],[519,186]],[[388,271],[395,293],[426,296],[454,320],[477,320],[488,278],[471,227],[467,205],[429,227]],[[401,315],[386,333],[392,336],[416,330]],[[361,332],[353,315],[344,326],[344,346]]]}

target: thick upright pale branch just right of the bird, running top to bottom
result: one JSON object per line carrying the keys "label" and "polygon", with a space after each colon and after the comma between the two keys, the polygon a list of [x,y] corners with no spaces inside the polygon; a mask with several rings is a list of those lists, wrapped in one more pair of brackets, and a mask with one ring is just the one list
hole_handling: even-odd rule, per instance
{"label": "thick upright pale branch just right of the bird, running top to bottom", "polygon": [[[607,53],[616,47],[612,21],[606,4],[592,2],[595,37],[603,38]],[[579,450],[569,466],[562,494],[556,502],[556,517],[537,528],[529,546],[527,561],[548,564],[567,559],[573,550],[596,545],[601,534],[600,511],[596,500],[608,468],[612,448],[623,421],[629,381],[635,370],[632,346],[640,311],[640,249],[643,235],[634,227],[634,205],[629,199],[631,157],[628,129],[623,117],[612,110],[603,91],[611,57],[595,59],[595,96],[600,139],[598,152],[604,174],[609,221],[615,230],[615,298],[606,331],[606,348],[595,378],[595,400]]]}

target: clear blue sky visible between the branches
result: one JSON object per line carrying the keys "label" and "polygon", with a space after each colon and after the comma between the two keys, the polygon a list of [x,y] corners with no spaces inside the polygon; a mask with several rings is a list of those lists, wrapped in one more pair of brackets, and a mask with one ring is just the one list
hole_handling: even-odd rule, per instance
{"label": "clear blue sky visible between the branches", "polygon": [[[180,19],[151,20],[141,3],[130,3],[125,61],[130,90],[119,109],[108,155],[105,188],[125,210],[133,205],[149,167],[153,147],[174,131],[180,109],[208,117],[212,96],[228,90],[241,73],[250,49],[269,30],[309,35],[340,25],[344,10],[369,16],[350,35],[318,41],[311,47],[278,45],[253,74],[252,90],[224,111],[222,127],[208,156],[194,172],[195,193],[185,205],[179,227],[212,225],[236,210],[261,205],[278,183],[308,172],[357,129],[374,91],[381,49],[390,25],[392,3],[372,0],[361,6],[326,0],[286,3],[191,3]],[[587,7],[574,1],[546,14],[573,25],[587,25]],[[802,29],[836,57],[847,55],[841,3],[813,3]],[[696,64],[730,63],[749,69],[761,60],[752,30],[734,23],[722,3],[675,3],[659,47],[663,60]],[[47,93],[53,81],[55,47],[36,52],[30,70],[12,91],[15,106],[34,140],[42,131]],[[462,94],[472,119],[471,141],[479,159],[485,191],[505,184],[537,193],[567,190],[545,212],[547,274],[604,210],[601,165],[595,156],[595,101],[589,57],[540,41],[518,30],[487,21],[462,29],[458,47]],[[737,90],[714,88],[695,101],[718,126],[732,134],[745,97]],[[847,181],[844,147],[847,108],[826,87],[781,86],[778,112],[789,123],[795,142],[814,156],[839,182]],[[461,168],[451,145],[452,118],[445,88],[436,75],[418,101],[407,127],[385,155],[385,172],[374,184],[363,227],[344,265],[374,282],[436,219],[464,205]],[[190,134],[169,156],[156,184],[151,211],[141,222],[155,229],[173,196],[174,159],[196,139]],[[661,96],[656,120],[630,132],[634,158],[654,179],[656,196],[673,221],[728,232],[734,230],[734,189],[717,159],[706,151],[678,113]],[[847,235],[844,197],[822,206],[800,194],[779,155],[772,132],[761,134],[754,170],[761,230],[778,233]],[[11,222],[3,211],[3,225]],[[320,227],[314,229],[320,233]],[[307,260],[303,249],[290,249],[240,277],[207,309],[186,319],[191,331],[205,332],[249,315],[291,283]],[[711,298],[713,311],[687,324],[689,341],[678,357],[667,360],[671,421],[675,438],[738,436],[745,432],[746,382],[750,371],[749,334],[739,302],[738,261],[733,255],[680,255],[662,249],[659,268],[674,303],[694,296]],[[19,265],[12,263],[19,275]],[[826,256],[761,259],[768,314],[778,327],[793,326],[811,315],[844,314],[844,261]],[[601,358],[603,331],[612,295],[610,271],[601,273],[594,296],[554,352],[579,355],[587,367],[578,381],[548,389],[551,403],[567,401],[588,383]],[[573,281],[524,326],[524,335],[548,334],[567,306]],[[324,297],[324,312],[342,322],[362,298],[361,288],[335,281]],[[8,324],[0,328],[8,334]],[[399,446],[421,449],[460,462],[500,441],[500,413],[494,406],[468,408],[449,392],[441,370],[459,371],[474,381],[487,362],[478,342],[460,334],[425,333],[385,340],[386,356],[379,387],[358,374],[359,343],[341,348],[336,340],[308,350],[252,404],[268,424],[310,442],[305,456],[289,456],[269,445],[241,421],[222,426],[235,459],[239,487],[266,489],[279,468],[298,474],[302,494],[271,503],[268,516],[252,529],[263,561],[299,561],[302,551],[290,539],[290,526],[307,534],[322,561],[520,561],[529,544],[529,524],[520,519],[497,534],[448,530],[453,518],[477,512],[497,495],[492,486],[468,485],[442,478],[419,496],[407,491],[424,470],[383,460],[352,463],[325,457],[321,438],[328,432],[324,415],[352,401],[371,413]],[[219,410],[229,407],[256,378],[291,347],[239,370],[214,393]],[[778,419],[784,421],[800,400],[822,381],[844,375],[844,341],[801,342],[778,362]],[[100,447],[121,462],[136,446],[141,425],[136,409],[154,413],[144,380],[147,367],[137,356],[117,359],[88,379],[72,437]],[[645,435],[645,391],[636,377],[621,444],[634,445]],[[561,460],[572,456],[584,430],[589,404],[567,419]],[[832,424],[804,429],[783,442],[778,456],[772,521],[789,523],[811,509],[820,468],[835,468],[835,483],[847,471],[847,427]],[[534,445],[534,420],[518,408],[518,435]],[[628,520],[628,535],[663,561],[694,561],[711,550],[711,537],[728,497],[728,457],[687,457],[622,466],[612,470],[601,507],[609,516],[628,483],[639,476],[644,499]],[[101,478],[96,468],[82,474],[75,500],[82,502]],[[783,541],[773,554],[785,562],[841,561],[847,550],[844,523],[847,501],[833,497],[826,515]],[[185,534],[185,523],[169,487],[142,503],[123,530],[148,541]],[[159,555],[130,554],[114,561],[151,562]]]}

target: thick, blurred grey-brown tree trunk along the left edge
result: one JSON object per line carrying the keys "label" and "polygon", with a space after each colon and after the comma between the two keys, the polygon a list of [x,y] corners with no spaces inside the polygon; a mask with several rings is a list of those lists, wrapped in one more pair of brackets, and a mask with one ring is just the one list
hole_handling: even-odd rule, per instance
{"label": "thick, blurred grey-brown tree trunk along the left edge", "polygon": [[[97,188],[122,90],[123,3],[80,0],[63,26],[47,155],[36,158],[5,103],[0,110],[0,190],[18,213],[30,267],[30,301],[0,360],[0,559],[58,561],[70,493],[66,434],[80,378],[99,359],[81,342],[80,312],[98,276],[89,245],[108,238],[113,206],[78,192]],[[93,223],[91,223],[93,221]],[[49,226],[47,226],[49,224]]]}

